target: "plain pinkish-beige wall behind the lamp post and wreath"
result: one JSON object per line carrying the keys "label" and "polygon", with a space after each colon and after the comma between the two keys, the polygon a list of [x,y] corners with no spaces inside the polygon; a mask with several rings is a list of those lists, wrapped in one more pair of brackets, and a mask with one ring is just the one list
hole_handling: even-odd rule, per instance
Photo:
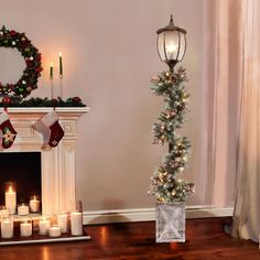
{"label": "plain pinkish-beige wall behind the lamp post and wreath", "polygon": [[188,33],[183,66],[191,78],[192,111],[184,132],[192,139],[193,154],[184,177],[196,183],[197,193],[188,203],[204,204],[202,12],[201,0],[1,2],[0,22],[24,31],[43,54],[44,73],[33,95],[50,95],[47,66],[62,51],[65,95],[79,96],[91,108],[78,124],[76,183],[85,209],[154,205],[147,189],[165,149],[151,144],[162,99],[151,93],[150,77],[166,68],[156,54],[155,31],[167,24],[171,13]]}

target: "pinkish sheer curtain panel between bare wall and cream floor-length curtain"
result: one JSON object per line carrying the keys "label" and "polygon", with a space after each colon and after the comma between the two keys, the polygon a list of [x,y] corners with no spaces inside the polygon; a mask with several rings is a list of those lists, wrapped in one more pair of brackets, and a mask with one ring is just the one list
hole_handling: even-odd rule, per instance
{"label": "pinkish sheer curtain panel between bare wall and cream floor-length curtain", "polygon": [[205,119],[203,158],[207,205],[234,205],[241,100],[240,0],[204,0]]}

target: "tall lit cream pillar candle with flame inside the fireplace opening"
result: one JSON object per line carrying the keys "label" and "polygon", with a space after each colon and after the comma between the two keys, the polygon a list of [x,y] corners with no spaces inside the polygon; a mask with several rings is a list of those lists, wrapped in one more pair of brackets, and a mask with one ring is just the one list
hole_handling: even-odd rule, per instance
{"label": "tall lit cream pillar candle with flame inside the fireplace opening", "polygon": [[7,182],[4,184],[6,206],[9,214],[17,213],[17,184],[14,182]]}

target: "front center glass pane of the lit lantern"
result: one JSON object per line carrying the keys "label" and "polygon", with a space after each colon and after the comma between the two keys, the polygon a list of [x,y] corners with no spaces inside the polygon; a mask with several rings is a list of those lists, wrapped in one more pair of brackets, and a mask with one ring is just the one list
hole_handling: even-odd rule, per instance
{"label": "front center glass pane of the lit lantern", "polygon": [[178,33],[177,31],[165,32],[165,54],[167,61],[176,61],[178,54]]}

